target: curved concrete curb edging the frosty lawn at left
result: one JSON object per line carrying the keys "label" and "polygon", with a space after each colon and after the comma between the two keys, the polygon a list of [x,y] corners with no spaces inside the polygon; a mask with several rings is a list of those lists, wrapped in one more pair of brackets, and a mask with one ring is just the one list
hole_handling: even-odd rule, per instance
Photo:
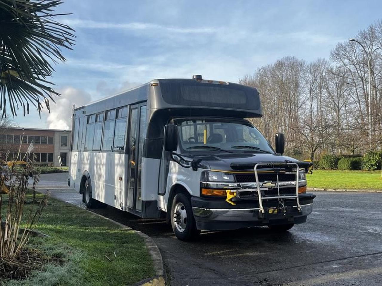
{"label": "curved concrete curb edging the frosty lawn at left", "polygon": [[[37,189],[36,189],[37,191]],[[53,199],[57,199],[52,197]],[[62,201],[60,199],[57,199],[61,202],[65,202],[66,204],[70,204],[71,206],[76,206],[75,204],[71,204],[70,202]],[[78,206],[76,206],[78,207]],[[149,253],[152,258],[152,262],[154,264],[154,271],[155,271],[155,276],[152,276],[150,278],[146,278],[144,280],[141,280],[139,282],[136,282],[132,284],[132,286],[165,286],[167,283],[167,275],[164,270],[164,264],[163,264],[163,259],[162,259],[162,254],[160,254],[159,248],[157,244],[155,244],[154,240],[146,235],[145,233],[142,233],[141,231],[134,230],[131,227],[128,227],[126,225],[123,225],[122,223],[116,222],[115,220],[109,219],[108,217],[104,217],[103,215],[97,214],[96,212],[92,212],[91,210],[85,208],[87,212],[90,212],[91,214],[97,215],[101,217],[102,219],[108,220],[118,226],[120,226],[123,229],[127,230],[132,230],[134,233],[138,234],[141,236],[144,240],[144,243],[146,244],[147,249],[149,250]]]}

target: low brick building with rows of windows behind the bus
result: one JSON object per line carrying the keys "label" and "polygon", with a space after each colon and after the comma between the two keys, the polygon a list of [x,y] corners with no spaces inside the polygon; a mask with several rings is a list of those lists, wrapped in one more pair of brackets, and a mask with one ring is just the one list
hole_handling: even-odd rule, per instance
{"label": "low brick building with rows of windows behind the bus", "polygon": [[[33,144],[35,161],[40,165],[60,167],[69,164],[69,151],[71,130],[35,129],[35,128],[9,128],[0,133],[1,151],[9,150],[8,159],[22,160],[30,145]],[[58,158],[60,156],[60,159]]]}

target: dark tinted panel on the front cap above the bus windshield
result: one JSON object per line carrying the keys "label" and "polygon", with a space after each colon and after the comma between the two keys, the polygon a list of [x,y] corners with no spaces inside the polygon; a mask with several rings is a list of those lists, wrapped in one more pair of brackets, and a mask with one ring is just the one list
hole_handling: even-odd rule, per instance
{"label": "dark tinted panel on the front cap above the bus windshield", "polygon": [[160,80],[163,100],[168,104],[259,109],[256,89],[237,84],[207,84],[185,80]]}

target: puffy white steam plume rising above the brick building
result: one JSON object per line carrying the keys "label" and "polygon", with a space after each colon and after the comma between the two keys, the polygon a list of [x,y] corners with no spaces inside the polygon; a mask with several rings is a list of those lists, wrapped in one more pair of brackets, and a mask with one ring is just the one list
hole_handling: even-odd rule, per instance
{"label": "puffy white steam plume rising above the brick building", "polygon": [[[65,87],[57,92],[61,96],[57,98],[56,103],[50,103],[50,114],[47,114],[47,125],[50,129],[71,129],[71,115],[73,104],[78,107],[91,101],[89,93],[73,88]],[[47,113],[47,111],[43,111]]]}

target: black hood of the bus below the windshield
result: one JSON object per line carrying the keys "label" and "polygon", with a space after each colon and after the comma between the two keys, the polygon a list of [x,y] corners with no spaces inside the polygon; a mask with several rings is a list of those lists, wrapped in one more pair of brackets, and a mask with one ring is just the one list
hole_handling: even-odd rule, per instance
{"label": "black hood of the bus below the windshield", "polygon": [[211,170],[237,171],[253,170],[257,163],[283,163],[294,162],[300,168],[308,168],[311,162],[298,161],[292,157],[279,154],[249,154],[249,153],[222,153],[198,156],[202,159],[201,164],[208,166]]}

